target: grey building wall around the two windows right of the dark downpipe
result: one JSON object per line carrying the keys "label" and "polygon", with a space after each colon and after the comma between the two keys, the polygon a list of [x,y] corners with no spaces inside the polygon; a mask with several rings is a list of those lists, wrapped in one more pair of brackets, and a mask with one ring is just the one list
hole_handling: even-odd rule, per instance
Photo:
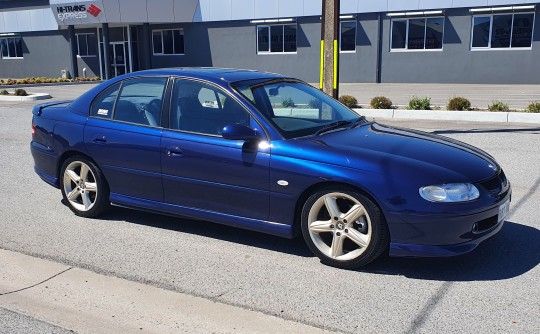
{"label": "grey building wall around the two windows right of the dark downpipe", "polygon": [[531,50],[471,51],[471,26],[468,10],[447,10],[443,51],[390,52],[390,19],[385,19],[382,82],[540,83],[538,10]]}

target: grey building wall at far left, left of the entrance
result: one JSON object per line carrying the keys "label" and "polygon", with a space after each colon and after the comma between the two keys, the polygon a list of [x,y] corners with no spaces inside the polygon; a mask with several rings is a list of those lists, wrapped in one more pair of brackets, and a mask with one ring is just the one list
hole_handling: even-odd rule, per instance
{"label": "grey building wall at far left, left of the entrance", "polygon": [[61,70],[71,68],[67,31],[20,34],[24,59],[0,58],[0,77],[60,77]]}

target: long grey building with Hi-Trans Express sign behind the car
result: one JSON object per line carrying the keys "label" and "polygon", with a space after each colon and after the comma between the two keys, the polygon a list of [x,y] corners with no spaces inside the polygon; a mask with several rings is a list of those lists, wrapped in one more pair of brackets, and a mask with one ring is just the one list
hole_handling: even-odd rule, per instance
{"label": "long grey building with Hi-Trans Express sign behind the car", "polygon": [[[341,0],[340,81],[540,83],[537,1]],[[217,66],[319,80],[321,0],[1,0],[0,78]]]}

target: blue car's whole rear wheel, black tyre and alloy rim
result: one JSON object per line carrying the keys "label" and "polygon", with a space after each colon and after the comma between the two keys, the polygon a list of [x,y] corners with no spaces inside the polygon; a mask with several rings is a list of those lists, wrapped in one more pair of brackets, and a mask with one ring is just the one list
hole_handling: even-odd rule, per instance
{"label": "blue car's whole rear wheel, black tyre and alloy rim", "polygon": [[65,202],[76,215],[96,217],[110,205],[109,187],[99,168],[75,156],[62,165],[60,187]]}

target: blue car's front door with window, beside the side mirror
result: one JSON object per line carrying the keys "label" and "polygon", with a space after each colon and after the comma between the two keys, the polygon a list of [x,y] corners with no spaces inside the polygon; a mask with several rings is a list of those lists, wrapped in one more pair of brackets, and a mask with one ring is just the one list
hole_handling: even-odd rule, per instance
{"label": "blue car's front door with window, beside the side mirror", "polygon": [[161,142],[164,200],[181,207],[268,219],[269,160],[258,143],[227,140],[227,124],[255,125],[233,97],[209,83],[176,79]]}

